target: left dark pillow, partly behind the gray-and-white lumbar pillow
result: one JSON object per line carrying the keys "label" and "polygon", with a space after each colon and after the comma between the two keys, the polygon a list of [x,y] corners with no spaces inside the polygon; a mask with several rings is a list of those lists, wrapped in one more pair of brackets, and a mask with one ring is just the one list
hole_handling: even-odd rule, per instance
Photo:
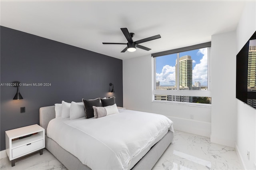
{"label": "left dark pillow, partly behind the gray-and-white lumbar pillow", "polygon": [[100,98],[94,99],[94,100],[82,99],[82,101],[84,103],[85,119],[94,117],[94,110],[93,110],[92,106],[100,107],[101,106]]}

